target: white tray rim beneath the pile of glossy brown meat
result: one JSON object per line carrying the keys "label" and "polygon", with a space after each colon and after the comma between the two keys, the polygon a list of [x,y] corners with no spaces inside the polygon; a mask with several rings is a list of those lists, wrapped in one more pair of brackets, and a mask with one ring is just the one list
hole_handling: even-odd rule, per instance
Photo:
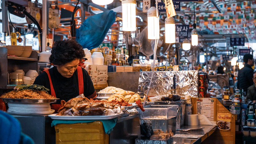
{"label": "white tray rim beneath the pile of glossy brown meat", "polygon": [[104,119],[114,119],[121,115],[123,115],[123,112],[117,115],[65,116],[65,115],[52,114],[48,116],[51,119],[58,119],[58,120],[104,120]]}

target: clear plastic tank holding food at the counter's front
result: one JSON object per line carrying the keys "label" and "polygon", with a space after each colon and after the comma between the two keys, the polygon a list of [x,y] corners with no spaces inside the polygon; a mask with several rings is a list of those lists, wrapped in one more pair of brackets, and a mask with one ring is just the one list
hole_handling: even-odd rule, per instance
{"label": "clear plastic tank holding food at the counter's front", "polygon": [[[141,138],[167,140],[175,135],[177,108],[177,105],[149,105],[144,107],[145,111],[138,109]],[[160,133],[167,136],[159,138]]]}

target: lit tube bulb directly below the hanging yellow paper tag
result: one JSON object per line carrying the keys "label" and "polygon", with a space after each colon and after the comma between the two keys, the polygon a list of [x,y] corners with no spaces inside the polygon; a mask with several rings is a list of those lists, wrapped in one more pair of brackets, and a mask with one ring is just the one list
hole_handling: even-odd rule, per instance
{"label": "lit tube bulb directly below the hanging yellow paper tag", "polygon": [[165,18],[165,43],[175,43],[175,19]]}

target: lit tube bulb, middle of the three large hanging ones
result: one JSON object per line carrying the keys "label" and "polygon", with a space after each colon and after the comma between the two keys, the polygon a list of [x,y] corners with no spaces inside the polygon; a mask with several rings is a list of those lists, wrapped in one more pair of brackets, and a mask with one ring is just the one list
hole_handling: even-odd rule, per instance
{"label": "lit tube bulb, middle of the three large hanging ones", "polygon": [[156,7],[152,6],[148,10],[148,39],[159,39],[159,32],[159,17],[156,17]]}

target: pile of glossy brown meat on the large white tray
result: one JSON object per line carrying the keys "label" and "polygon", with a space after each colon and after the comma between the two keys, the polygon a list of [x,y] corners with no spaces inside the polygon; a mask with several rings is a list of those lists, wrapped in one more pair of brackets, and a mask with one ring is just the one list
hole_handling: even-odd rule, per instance
{"label": "pile of glossy brown meat on the large white tray", "polygon": [[122,112],[120,105],[106,101],[87,98],[73,98],[67,103],[61,100],[61,108],[57,115],[89,116],[89,115],[116,115]]}

